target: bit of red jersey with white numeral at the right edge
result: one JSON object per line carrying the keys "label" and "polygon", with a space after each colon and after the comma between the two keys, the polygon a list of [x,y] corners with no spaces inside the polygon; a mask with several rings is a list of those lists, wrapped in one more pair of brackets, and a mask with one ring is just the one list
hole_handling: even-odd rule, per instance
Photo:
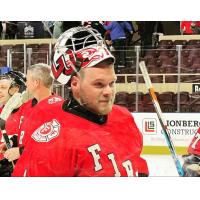
{"label": "bit of red jersey with white numeral at the right edge", "polygon": [[197,133],[188,147],[188,153],[200,155],[200,128],[197,130]]}

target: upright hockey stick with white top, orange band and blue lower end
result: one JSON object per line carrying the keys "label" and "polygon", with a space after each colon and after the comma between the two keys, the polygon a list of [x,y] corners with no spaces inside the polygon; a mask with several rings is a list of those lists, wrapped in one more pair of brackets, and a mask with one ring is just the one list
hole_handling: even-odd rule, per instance
{"label": "upright hockey stick with white top, orange band and blue lower end", "polygon": [[178,174],[179,176],[184,176],[184,171],[183,171],[183,168],[181,166],[181,163],[177,157],[177,154],[176,154],[176,151],[175,151],[175,148],[174,148],[174,144],[172,142],[172,139],[170,137],[170,133],[168,132],[168,128],[167,128],[167,124],[163,118],[163,114],[162,114],[162,111],[161,111],[161,108],[160,108],[160,105],[158,103],[158,99],[156,97],[156,94],[154,92],[154,88],[152,86],[152,83],[151,83],[151,80],[150,80],[150,77],[149,77],[149,74],[147,72],[147,69],[146,69],[146,65],[145,65],[145,62],[144,61],[141,61],[139,63],[139,66],[140,66],[140,70],[142,72],[142,75],[144,77],[144,80],[145,80],[145,83],[146,83],[146,87],[149,91],[149,94],[151,96],[151,99],[152,99],[152,102],[153,102],[153,105],[154,105],[154,108],[156,110],[156,113],[157,113],[157,116],[158,116],[158,119],[160,121],[160,125],[163,129],[163,132],[164,132],[164,136],[165,136],[165,139],[166,139],[166,142],[167,142],[167,145],[169,147],[169,150],[170,150],[170,153],[172,155],[172,158],[174,160],[174,163],[176,165],[176,169],[178,171]]}

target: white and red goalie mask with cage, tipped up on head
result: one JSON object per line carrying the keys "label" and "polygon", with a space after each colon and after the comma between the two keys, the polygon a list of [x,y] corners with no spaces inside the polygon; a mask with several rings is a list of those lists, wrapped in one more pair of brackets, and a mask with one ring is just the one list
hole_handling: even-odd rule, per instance
{"label": "white and red goalie mask with cage, tipped up on head", "polygon": [[65,31],[55,44],[52,75],[67,84],[81,68],[93,67],[114,56],[107,49],[101,34],[95,29],[75,27]]}

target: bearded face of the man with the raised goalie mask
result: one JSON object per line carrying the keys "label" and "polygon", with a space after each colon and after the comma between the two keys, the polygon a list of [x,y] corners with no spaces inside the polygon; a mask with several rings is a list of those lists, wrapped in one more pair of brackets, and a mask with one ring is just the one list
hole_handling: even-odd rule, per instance
{"label": "bearded face of the man with the raised goalie mask", "polygon": [[[88,110],[100,114],[108,114],[115,98],[116,75],[112,66],[92,67],[84,69],[83,74],[76,77],[76,96]],[[72,87],[73,89],[73,87]]]}

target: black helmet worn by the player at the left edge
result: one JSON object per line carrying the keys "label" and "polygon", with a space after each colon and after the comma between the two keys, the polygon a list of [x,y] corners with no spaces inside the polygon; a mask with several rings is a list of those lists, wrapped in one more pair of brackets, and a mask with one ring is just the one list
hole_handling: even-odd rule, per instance
{"label": "black helmet worn by the player at the left edge", "polygon": [[20,71],[9,71],[8,73],[2,74],[0,79],[11,80],[10,88],[18,86],[20,93],[26,90],[26,76]]}

